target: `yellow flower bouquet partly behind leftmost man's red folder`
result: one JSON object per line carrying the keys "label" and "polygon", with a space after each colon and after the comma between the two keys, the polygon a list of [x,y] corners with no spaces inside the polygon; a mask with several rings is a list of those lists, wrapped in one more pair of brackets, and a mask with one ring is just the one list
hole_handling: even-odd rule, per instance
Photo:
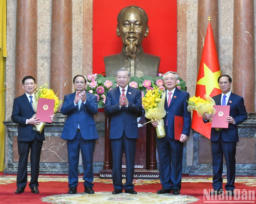
{"label": "yellow flower bouquet partly behind leftmost man's red folder", "polygon": [[[55,103],[54,103],[54,111],[53,113],[56,113],[60,104],[61,104],[61,100],[59,99],[59,97],[53,92],[52,89],[48,88],[48,84],[44,84],[44,86],[40,86],[39,89],[36,89],[36,91],[34,92],[35,94],[35,102],[32,103],[32,106],[34,108],[34,111],[36,112],[37,110],[37,104],[38,104],[38,98],[48,98],[48,99],[54,99]],[[33,117],[35,117],[36,114],[33,115]],[[43,128],[44,128],[45,122],[41,122],[40,124],[36,125],[33,127],[34,130],[36,130],[37,132],[41,133]]]}

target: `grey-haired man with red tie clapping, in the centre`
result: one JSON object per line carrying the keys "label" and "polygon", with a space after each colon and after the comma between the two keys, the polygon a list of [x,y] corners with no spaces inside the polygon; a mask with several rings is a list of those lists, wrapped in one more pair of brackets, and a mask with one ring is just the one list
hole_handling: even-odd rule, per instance
{"label": "grey-haired man with red tie clapping, in the centre", "polygon": [[[142,113],[141,91],[128,86],[130,73],[121,68],[116,71],[118,87],[107,92],[105,112],[110,114],[110,133],[113,153],[112,179],[113,194],[137,194],[132,184],[134,175],[134,161],[136,139],[138,134],[137,117]],[[122,157],[126,158],[126,182],[122,183]]]}

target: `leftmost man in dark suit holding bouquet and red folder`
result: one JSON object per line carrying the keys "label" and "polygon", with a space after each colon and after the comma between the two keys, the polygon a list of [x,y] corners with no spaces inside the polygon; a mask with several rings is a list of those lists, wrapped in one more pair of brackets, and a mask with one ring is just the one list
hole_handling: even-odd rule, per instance
{"label": "leftmost man in dark suit holding bouquet and red folder", "polygon": [[[39,124],[40,118],[36,119],[32,103],[35,98],[36,80],[31,76],[26,76],[22,80],[22,88],[25,93],[13,101],[12,121],[18,123],[18,152],[19,165],[17,171],[17,189],[15,193],[23,193],[28,182],[28,154],[30,152],[31,179],[29,187],[32,193],[39,193],[38,175],[40,154],[44,141],[44,129],[41,133],[33,130],[34,125]],[[34,101],[35,102],[35,101]],[[51,120],[54,116],[50,116]]]}

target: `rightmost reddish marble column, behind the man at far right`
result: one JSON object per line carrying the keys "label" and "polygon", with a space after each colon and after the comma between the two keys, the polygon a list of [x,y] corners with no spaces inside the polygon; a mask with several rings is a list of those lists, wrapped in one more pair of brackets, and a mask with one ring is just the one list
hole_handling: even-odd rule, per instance
{"label": "rightmost reddish marble column, behind the man at far right", "polygon": [[247,112],[254,110],[254,2],[234,1],[233,91],[244,97]]}

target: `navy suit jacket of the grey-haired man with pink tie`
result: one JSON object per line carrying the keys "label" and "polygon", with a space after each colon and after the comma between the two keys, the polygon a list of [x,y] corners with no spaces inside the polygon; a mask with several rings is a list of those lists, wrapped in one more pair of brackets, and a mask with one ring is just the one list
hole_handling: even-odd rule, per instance
{"label": "navy suit jacket of the grey-haired man with pink tie", "polygon": [[[182,134],[188,135],[191,128],[191,114],[188,112],[189,93],[182,91],[178,88],[175,89],[170,106],[168,107],[167,100],[164,103],[164,109],[166,115],[164,116],[164,128],[165,132],[168,131],[168,135],[171,139],[174,139],[174,116],[181,116],[184,119]],[[166,126],[166,120],[168,125]]]}

